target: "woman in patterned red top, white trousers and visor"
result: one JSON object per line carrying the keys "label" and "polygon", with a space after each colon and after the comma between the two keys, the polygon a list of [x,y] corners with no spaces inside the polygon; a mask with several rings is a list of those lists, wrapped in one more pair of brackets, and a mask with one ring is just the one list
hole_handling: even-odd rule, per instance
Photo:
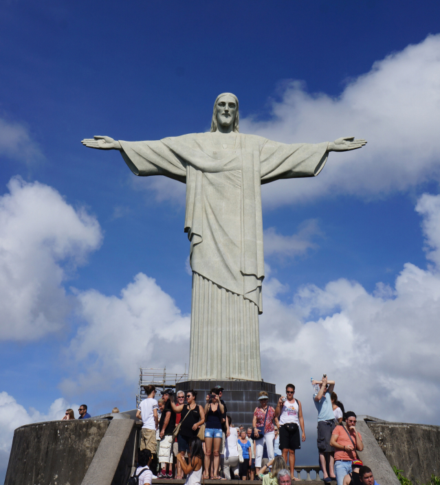
{"label": "woman in patterned red top, white trousers and visor", "polygon": [[[254,419],[252,426],[254,427],[255,435],[255,469],[256,474],[259,474],[261,468],[261,460],[263,458],[263,447],[266,444],[267,457],[269,460],[274,459],[274,419],[275,409],[269,406],[269,395],[265,391],[259,394],[260,407],[256,407],[254,411]],[[267,417],[266,417],[267,415]],[[264,436],[260,436],[259,428],[264,426]]]}

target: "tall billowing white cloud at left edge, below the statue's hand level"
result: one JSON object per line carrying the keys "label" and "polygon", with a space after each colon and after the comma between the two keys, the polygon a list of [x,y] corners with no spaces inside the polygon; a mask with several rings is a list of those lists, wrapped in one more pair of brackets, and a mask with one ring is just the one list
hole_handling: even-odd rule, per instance
{"label": "tall billowing white cloud at left edge, below the statue's hand level", "polygon": [[0,197],[0,339],[38,339],[63,325],[71,304],[62,284],[102,234],[96,218],[47,185],[15,177],[8,189]]}

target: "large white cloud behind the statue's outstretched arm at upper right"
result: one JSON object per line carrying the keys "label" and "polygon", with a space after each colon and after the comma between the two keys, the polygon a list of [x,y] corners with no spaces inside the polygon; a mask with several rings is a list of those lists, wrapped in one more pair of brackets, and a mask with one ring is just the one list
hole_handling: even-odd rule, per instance
{"label": "large white cloud behind the statue's outstretched arm at upper right", "polygon": [[375,63],[337,98],[307,93],[289,81],[272,119],[240,120],[243,133],[285,143],[317,143],[338,137],[365,138],[350,153],[331,153],[316,179],[264,185],[270,205],[308,201],[334,194],[383,197],[440,175],[440,34]]}

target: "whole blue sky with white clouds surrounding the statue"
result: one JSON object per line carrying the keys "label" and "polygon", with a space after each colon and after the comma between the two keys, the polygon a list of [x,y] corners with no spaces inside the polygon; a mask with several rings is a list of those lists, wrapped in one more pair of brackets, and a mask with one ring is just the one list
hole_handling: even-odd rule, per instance
{"label": "whole blue sky with white clouds surrounding the statue", "polygon": [[[327,370],[359,413],[439,424],[439,14],[434,1],[1,4],[0,468],[14,427],[83,402],[132,408],[140,365],[184,369],[184,185],[137,179],[80,140],[207,131],[224,91],[243,133],[369,141],[316,179],[263,188],[263,378],[295,381],[304,401]],[[413,404],[395,392],[408,379]]]}

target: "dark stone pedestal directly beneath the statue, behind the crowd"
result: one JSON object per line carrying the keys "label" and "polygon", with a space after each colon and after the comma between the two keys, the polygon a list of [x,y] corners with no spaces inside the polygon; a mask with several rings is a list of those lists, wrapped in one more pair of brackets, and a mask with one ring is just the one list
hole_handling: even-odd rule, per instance
{"label": "dark stone pedestal directly beneath the statue, behind the crowd", "polygon": [[276,407],[280,398],[280,394],[276,394],[275,384],[264,381],[185,381],[177,383],[176,392],[191,389],[197,391],[197,403],[204,407],[206,394],[216,385],[224,389],[222,399],[234,425],[252,426],[254,409],[259,406],[260,391],[269,394],[269,405],[272,407]]}

